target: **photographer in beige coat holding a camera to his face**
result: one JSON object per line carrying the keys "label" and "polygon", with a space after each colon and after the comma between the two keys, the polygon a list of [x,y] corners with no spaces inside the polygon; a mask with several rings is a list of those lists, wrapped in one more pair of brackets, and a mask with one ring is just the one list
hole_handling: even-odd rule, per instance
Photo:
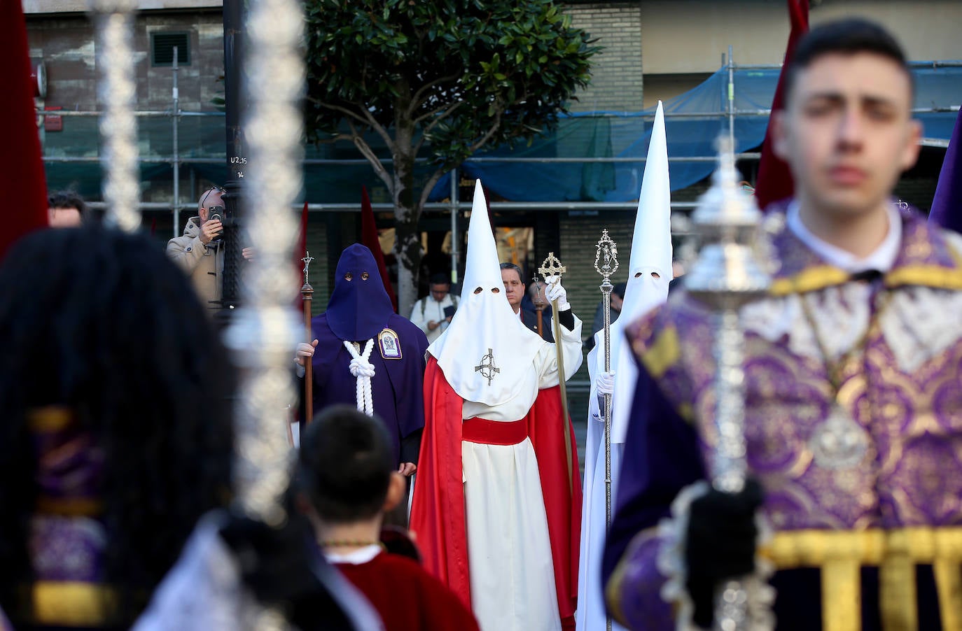
{"label": "photographer in beige coat holding a camera to his face", "polygon": [[[220,307],[221,273],[224,269],[223,223],[224,189],[207,189],[197,201],[197,216],[184,226],[184,234],[167,241],[167,257],[190,276],[193,289],[202,304],[210,309]],[[244,259],[253,251],[243,248]]]}

